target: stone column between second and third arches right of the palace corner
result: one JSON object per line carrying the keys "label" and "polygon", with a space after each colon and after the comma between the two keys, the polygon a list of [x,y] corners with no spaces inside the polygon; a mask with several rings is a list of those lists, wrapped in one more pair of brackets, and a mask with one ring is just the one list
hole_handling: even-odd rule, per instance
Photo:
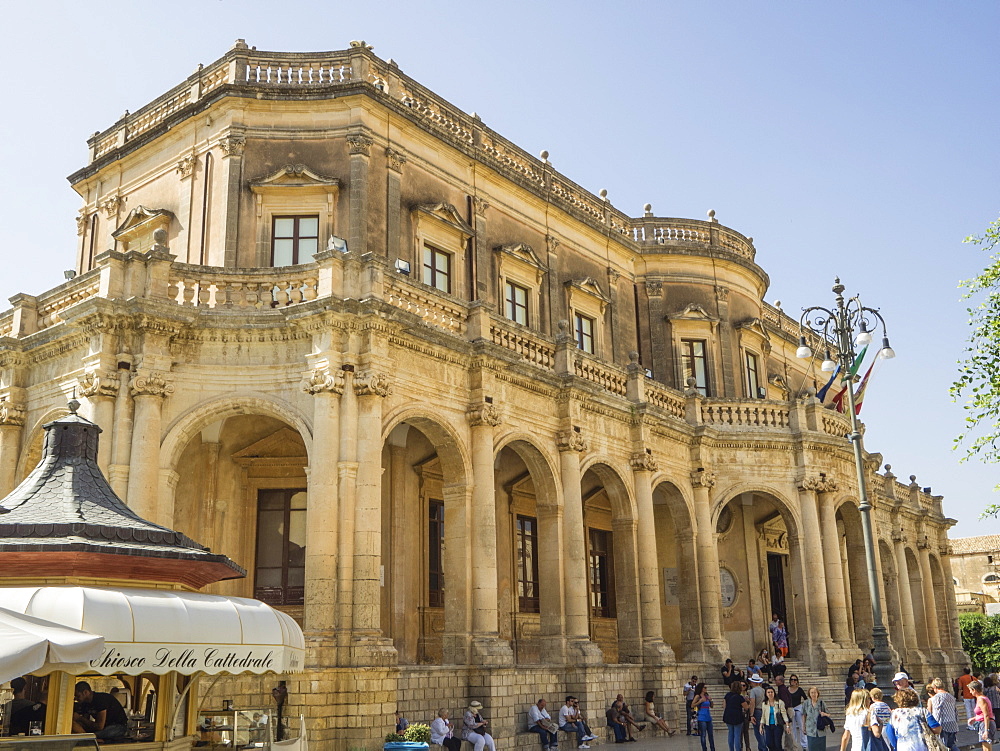
{"label": "stone column between second and third arches right of the palace corner", "polygon": [[569,659],[599,662],[601,650],[590,641],[590,579],[580,475],[580,452],[587,450],[587,441],[576,430],[565,430],[556,436],[556,445],[563,492],[564,628]]}

